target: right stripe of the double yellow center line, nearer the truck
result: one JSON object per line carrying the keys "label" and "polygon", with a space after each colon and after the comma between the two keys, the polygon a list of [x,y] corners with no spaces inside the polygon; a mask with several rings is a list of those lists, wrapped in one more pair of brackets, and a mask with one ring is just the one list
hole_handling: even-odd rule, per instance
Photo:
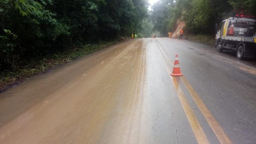
{"label": "right stripe of the double yellow center line, nearer the truck", "polygon": [[216,121],[216,119],[212,116],[211,112],[208,108],[204,105],[204,102],[200,99],[196,91],[193,87],[188,83],[188,80],[184,77],[180,77],[183,84],[185,84],[188,92],[192,96],[193,100],[196,102],[196,105],[204,115],[205,119],[207,120],[208,124],[212,128],[212,131],[215,133],[217,138],[219,139],[221,144],[232,144],[232,141],[228,138],[227,134],[223,131],[220,124]]}

